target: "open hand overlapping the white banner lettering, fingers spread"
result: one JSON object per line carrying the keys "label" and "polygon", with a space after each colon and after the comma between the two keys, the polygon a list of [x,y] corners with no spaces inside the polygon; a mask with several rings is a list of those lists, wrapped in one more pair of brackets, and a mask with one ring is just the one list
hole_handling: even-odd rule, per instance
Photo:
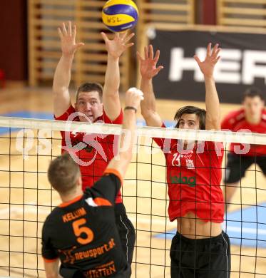
{"label": "open hand overlapping the white banner lettering, fingers spread", "polygon": [[194,56],[195,61],[198,63],[200,67],[200,71],[204,74],[205,77],[213,77],[213,71],[216,63],[220,60],[220,56],[218,56],[221,48],[219,48],[219,44],[215,44],[213,51],[211,50],[212,43],[208,44],[207,54],[204,61],[200,61],[198,56]]}

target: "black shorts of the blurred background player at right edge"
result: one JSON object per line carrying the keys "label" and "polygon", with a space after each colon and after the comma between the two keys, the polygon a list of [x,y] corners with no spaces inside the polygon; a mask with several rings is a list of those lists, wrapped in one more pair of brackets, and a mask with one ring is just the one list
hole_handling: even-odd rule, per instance
{"label": "black shorts of the blurred background player at right edge", "polygon": [[253,163],[260,166],[263,174],[266,175],[266,156],[248,156],[235,155],[235,153],[227,154],[227,165],[225,169],[225,184],[239,182],[245,177],[247,168]]}

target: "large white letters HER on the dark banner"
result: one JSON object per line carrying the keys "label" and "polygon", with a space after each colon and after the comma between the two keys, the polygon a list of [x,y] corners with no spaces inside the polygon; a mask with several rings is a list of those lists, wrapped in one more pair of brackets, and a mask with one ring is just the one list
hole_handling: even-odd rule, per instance
{"label": "large white letters HER on the dark banner", "polygon": [[[203,61],[206,48],[196,48],[195,54]],[[228,48],[222,49],[220,56],[221,60],[215,66],[216,83],[250,85],[254,83],[255,78],[263,78],[266,84],[266,51],[241,51]],[[203,73],[200,72],[194,58],[184,57],[183,48],[172,48],[170,51],[169,80],[171,82],[181,81],[183,71],[194,71],[194,81],[204,81]]]}

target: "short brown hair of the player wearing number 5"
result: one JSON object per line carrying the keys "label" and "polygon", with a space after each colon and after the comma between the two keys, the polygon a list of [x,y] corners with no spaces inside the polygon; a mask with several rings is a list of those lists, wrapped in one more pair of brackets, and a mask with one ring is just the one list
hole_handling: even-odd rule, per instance
{"label": "short brown hair of the player wearing number 5", "polygon": [[63,153],[51,161],[48,168],[48,180],[58,193],[71,191],[81,176],[79,167],[68,153]]}

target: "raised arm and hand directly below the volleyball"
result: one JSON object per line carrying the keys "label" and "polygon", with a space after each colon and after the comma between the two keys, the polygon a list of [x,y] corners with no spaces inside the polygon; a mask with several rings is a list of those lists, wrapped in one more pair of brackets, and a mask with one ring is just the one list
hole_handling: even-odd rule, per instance
{"label": "raised arm and hand directly below the volleyball", "polygon": [[116,120],[121,113],[121,103],[119,99],[120,71],[119,58],[127,48],[133,46],[134,43],[128,43],[134,34],[116,33],[113,40],[108,39],[106,34],[101,33],[106,43],[107,68],[106,78],[103,86],[103,108],[111,120]]}

